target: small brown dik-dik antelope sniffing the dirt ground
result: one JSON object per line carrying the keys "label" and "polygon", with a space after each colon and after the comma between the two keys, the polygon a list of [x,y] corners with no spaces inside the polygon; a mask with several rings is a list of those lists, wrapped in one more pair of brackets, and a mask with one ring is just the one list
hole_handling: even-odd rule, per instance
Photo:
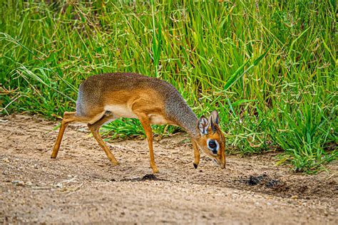
{"label": "small brown dik-dik antelope sniffing the dirt ground", "polygon": [[225,137],[219,127],[220,118],[216,110],[209,120],[200,120],[185,103],[173,85],[158,78],[150,78],[137,73],[106,73],[93,75],[78,88],[76,112],[64,112],[58,137],[51,154],[56,158],[63,132],[70,122],[88,124],[93,137],[113,165],[118,161],[98,134],[105,123],[120,117],[138,118],[145,130],[150,152],[150,167],[158,172],[153,153],[153,132],[150,125],[178,125],[182,127],[193,142],[194,167],[200,162],[200,151],[215,159],[225,168]]}

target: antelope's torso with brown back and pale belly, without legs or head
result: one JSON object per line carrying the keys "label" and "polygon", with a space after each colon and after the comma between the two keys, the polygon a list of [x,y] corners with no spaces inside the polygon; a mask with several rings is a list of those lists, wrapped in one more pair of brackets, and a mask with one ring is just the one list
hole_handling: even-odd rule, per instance
{"label": "antelope's torso with brown back and pale belly, without legs or head", "polygon": [[187,124],[184,115],[189,115],[188,120],[197,120],[190,116],[193,112],[173,85],[138,73],[106,73],[83,81],[78,90],[76,114],[101,117],[106,111],[116,117],[132,118],[142,113],[153,124],[184,126]]}

